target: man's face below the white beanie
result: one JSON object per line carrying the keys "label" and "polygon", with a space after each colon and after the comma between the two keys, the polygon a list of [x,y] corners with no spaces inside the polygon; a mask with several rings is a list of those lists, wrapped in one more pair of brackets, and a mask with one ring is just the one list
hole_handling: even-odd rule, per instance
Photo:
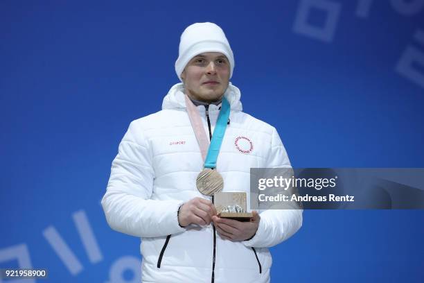
{"label": "man's face below the white beanie", "polygon": [[197,101],[211,103],[224,95],[229,83],[230,66],[227,57],[218,52],[201,53],[193,57],[181,74],[186,94]]}

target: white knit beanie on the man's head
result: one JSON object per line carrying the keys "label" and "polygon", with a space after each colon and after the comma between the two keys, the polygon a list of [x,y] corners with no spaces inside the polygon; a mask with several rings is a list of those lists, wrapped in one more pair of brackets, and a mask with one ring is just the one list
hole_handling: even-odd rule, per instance
{"label": "white knit beanie on the man's head", "polygon": [[234,56],[222,28],[213,23],[195,23],[188,26],[179,41],[179,55],[175,62],[175,72],[182,81],[181,73],[188,61],[204,52],[220,52],[227,56],[230,65],[230,78],[233,76]]}

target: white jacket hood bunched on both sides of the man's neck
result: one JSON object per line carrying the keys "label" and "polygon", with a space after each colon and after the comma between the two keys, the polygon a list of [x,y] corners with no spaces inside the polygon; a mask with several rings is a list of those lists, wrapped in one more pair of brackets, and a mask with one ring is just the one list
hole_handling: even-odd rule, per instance
{"label": "white jacket hood bunched on both sides of the man's neck", "polygon": [[[168,94],[162,103],[162,110],[166,109],[186,109],[186,101],[184,98],[184,84],[177,83],[170,88]],[[227,98],[232,111],[242,111],[242,103],[240,102],[240,89],[229,82],[224,97]]]}

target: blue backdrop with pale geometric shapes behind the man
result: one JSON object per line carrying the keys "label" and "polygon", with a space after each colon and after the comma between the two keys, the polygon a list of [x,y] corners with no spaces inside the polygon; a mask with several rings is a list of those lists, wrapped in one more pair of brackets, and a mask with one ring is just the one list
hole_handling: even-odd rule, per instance
{"label": "blue backdrop with pale geometric shapes behind the man", "polygon": [[[293,166],[424,167],[424,1],[122,2],[0,3],[0,268],[138,280],[139,239],[100,199],[130,121],[178,82],[194,22],[223,28],[245,112]],[[273,282],[423,282],[423,210],[303,215],[272,248]]]}

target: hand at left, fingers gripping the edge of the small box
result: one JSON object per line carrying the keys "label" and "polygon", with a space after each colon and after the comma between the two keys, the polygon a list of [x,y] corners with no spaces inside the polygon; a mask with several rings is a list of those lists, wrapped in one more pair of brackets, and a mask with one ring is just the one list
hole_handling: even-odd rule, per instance
{"label": "hand at left, fingers gripping the edge of the small box", "polygon": [[179,208],[178,223],[182,227],[190,224],[209,225],[214,215],[216,209],[211,200],[197,197]]}

